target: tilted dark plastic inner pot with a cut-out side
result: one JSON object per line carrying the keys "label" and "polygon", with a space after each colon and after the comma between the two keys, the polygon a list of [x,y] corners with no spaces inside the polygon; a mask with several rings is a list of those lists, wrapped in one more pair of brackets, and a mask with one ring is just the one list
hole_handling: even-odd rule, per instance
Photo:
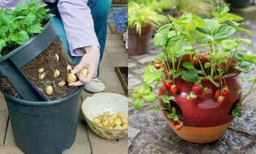
{"label": "tilted dark plastic inner pot with a cut-out side", "polygon": [[31,38],[0,59],[0,77],[5,76],[19,97],[28,101],[46,101],[45,96],[29,81],[21,67],[40,55],[56,38],[52,19],[44,26],[44,31]]}

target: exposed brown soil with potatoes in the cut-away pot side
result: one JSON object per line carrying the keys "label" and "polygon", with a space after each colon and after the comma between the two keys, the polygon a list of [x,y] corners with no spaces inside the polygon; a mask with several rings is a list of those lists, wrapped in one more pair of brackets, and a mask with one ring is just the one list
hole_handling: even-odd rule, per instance
{"label": "exposed brown soil with potatoes in the cut-away pot side", "polygon": [[[58,62],[55,54],[60,57]],[[34,83],[49,100],[56,100],[67,96],[72,90],[74,90],[74,87],[68,87],[66,81],[68,65],[72,66],[72,62],[68,57],[65,48],[61,44],[60,38],[57,37],[51,45],[44,50],[44,52],[23,66],[22,69],[29,77],[29,80],[31,80],[31,82]],[[43,80],[39,80],[38,76],[40,73],[38,73],[38,69],[42,67],[44,67],[45,78]],[[54,77],[56,69],[60,71],[60,76],[58,77]],[[66,81],[66,85],[58,87],[58,83],[61,81]],[[51,95],[45,94],[45,87],[47,85],[51,85],[53,87],[53,93]]]}

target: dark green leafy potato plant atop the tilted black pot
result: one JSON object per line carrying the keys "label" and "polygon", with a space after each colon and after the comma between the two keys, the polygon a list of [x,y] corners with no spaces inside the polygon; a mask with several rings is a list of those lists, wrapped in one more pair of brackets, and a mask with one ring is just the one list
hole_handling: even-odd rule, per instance
{"label": "dark green leafy potato plant atop the tilted black pot", "polygon": [[54,16],[45,6],[34,0],[17,4],[15,10],[0,9],[0,57],[4,48],[8,53],[44,29],[45,20]]}

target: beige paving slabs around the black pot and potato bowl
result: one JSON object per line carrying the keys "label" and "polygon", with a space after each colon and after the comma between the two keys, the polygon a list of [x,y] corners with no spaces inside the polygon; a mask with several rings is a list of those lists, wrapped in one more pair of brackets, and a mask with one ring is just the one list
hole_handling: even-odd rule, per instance
{"label": "beige paving slabs around the black pot and potato bowl", "polygon": [[[116,76],[114,68],[117,66],[127,67],[127,50],[120,34],[116,32],[111,21],[108,23],[108,36],[106,52],[100,64],[100,80],[106,84],[105,92],[113,92],[124,95],[124,90]],[[83,91],[81,101],[90,96]],[[73,146],[63,151],[63,154],[127,154],[127,137],[110,141],[97,136],[81,116],[77,127],[76,142]],[[1,154],[22,154],[22,151],[15,145],[11,123],[8,122],[8,111],[4,97],[0,95],[0,153]]]}

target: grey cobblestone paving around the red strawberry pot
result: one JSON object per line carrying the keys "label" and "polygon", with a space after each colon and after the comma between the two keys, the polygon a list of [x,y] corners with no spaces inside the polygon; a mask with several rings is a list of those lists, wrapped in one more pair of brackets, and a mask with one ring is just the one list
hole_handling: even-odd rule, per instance
{"label": "grey cobblestone paving around the red strawberry pot", "polygon": [[[246,28],[256,33],[256,21],[247,21]],[[241,38],[249,38],[238,32]],[[256,52],[256,36],[252,38],[253,46],[248,51]],[[141,75],[150,61],[161,52],[161,48],[152,48],[145,55],[129,56],[129,87],[142,84]],[[250,73],[256,74],[256,67]],[[244,75],[244,74],[241,74]],[[248,83],[243,83],[243,89],[248,90]],[[157,89],[155,89],[157,91]],[[131,97],[132,90],[129,91]],[[250,97],[255,97],[254,92]],[[145,111],[152,104],[145,104],[143,109],[135,111],[129,105],[129,153],[256,153],[256,102],[244,107],[242,118],[236,118],[225,134],[214,143],[195,144],[183,141],[168,126],[159,111]]]}

